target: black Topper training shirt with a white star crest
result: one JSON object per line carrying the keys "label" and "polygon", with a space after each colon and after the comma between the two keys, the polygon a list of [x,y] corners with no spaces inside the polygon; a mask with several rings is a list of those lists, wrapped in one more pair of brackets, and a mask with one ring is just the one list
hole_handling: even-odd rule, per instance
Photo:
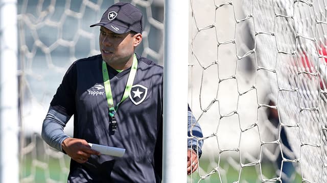
{"label": "black Topper training shirt with a white star crest", "polygon": [[[160,182],[162,162],[163,68],[137,56],[129,97],[116,112],[118,128],[110,128],[101,55],[76,61],[65,73],[51,106],[74,115],[74,138],[125,148],[123,157],[91,155],[84,164],[71,161],[68,182]],[[114,104],[121,101],[130,68],[108,66]]]}

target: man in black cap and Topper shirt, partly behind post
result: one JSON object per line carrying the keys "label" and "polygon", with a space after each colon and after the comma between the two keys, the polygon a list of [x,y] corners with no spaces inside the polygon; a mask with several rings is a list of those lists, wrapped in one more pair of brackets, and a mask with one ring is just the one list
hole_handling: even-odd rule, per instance
{"label": "man in black cap and Topper shirt, partly behind post", "polygon": [[[76,61],[65,73],[42,126],[42,138],[71,156],[68,182],[161,182],[161,66],[134,54],[143,15],[129,3],[108,8],[99,23],[101,55]],[[74,137],[63,133],[74,115]],[[202,137],[189,109],[189,136]],[[192,124],[191,124],[192,121]],[[88,143],[125,148],[103,155]],[[197,169],[202,141],[188,142],[188,174]],[[172,154],[173,155],[173,154]]]}

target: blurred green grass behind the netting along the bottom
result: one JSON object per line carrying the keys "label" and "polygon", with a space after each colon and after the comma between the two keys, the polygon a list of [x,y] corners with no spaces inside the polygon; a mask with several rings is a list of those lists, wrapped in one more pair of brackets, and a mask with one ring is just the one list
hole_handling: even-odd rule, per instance
{"label": "blurred green grass behind the netting along the bottom", "polygon": [[[67,182],[68,168],[69,168],[69,157],[64,155],[64,164],[60,164],[58,159],[50,158],[49,160],[39,160],[32,162],[32,155],[28,154],[20,162],[20,178],[31,178],[30,182],[43,183],[46,182],[47,178],[51,178],[58,182]],[[44,163],[45,162],[45,163]],[[208,174],[213,167],[210,167],[208,160],[200,160],[201,176]],[[192,175],[188,176],[188,182],[234,182],[239,179],[240,168],[233,168],[226,162],[221,163],[219,168],[219,173],[208,176],[206,179],[202,179],[199,176],[198,171],[194,172]],[[262,172],[266,178],[275,177],[274,169],[270,164],[262,164]],[[219,176],[220,174],[220,176]],[[259,165],[244,167],[242,168],[240,182],[262,182],[261,173]],[[220,179],[222,181],[220,181]],[[293,182],[302,182],[301,177],[296,174],[296,178]]]}

